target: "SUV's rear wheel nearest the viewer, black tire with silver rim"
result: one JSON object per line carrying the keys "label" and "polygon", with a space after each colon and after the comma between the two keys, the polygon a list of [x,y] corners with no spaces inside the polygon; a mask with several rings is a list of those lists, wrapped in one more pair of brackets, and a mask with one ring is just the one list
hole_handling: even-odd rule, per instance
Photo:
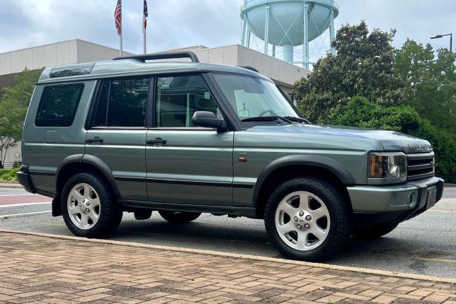
{"label": "SUV's rear wheel nearest the viewer, black tire with silver rim", "polygon": [[69,230],[84,238],[107,238],[120,225],[122,211],[102,175],[78,173],[64,185],[62,215]]}

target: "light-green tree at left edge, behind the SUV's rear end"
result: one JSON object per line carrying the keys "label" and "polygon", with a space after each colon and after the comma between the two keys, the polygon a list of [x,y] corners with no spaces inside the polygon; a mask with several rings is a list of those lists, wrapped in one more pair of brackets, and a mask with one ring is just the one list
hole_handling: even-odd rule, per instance
{"label": "light-green tree at left edge, behind the SUV's rear end", "polygon": [[8,148],[21,140],[25,114],[41,72],[42,70],[25,69],[16,76],[16,86],[3,88],[4,94],[0,101],[0,163],[4,163]]}

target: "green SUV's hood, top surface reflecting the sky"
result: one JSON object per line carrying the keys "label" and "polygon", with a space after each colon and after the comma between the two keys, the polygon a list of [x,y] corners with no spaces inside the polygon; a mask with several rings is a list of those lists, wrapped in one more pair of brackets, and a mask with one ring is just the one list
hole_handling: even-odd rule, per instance
{"label": "green SUV's hood, top surface reflecting the sky", "polygon": [[[357,127],[331,126],[324,124],[285,124],[275,126],[255,126],[246,131],[283,134],[313,134],[321,136],[346,137],[347,140],[370,139],[382,145],[385,151],[404,151],[404,153],[426,153],[433,150],[424,139],[397,131],[363,129]],[[349,142],[349,141],[348,141]]]}

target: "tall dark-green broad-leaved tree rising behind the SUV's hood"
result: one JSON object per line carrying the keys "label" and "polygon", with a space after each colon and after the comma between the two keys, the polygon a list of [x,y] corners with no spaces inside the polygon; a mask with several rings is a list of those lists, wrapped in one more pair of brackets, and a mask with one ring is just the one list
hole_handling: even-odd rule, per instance
{"label": "tall dark-green broad-leaved tree rising behind the SUV's hood", "polygon": [[379,105],[399,105],[403,82],[394,74],[395,31],[372,30],[362,21],[343,25],[332,43],[337,54],[319,59],[309,77],[293,86],[293,98],[313,122],[334,123],[350,98],[363,96]]}

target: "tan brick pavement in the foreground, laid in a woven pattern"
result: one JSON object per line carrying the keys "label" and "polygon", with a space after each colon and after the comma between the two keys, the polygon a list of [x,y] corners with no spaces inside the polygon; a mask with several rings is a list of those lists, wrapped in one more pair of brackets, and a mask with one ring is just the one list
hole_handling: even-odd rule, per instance
{"label": "tan brick pavement in the foreground, laid in a woven pattern", "polygon": [[0,231],[0,303],[456,304],[452,279],[127,244]]}

